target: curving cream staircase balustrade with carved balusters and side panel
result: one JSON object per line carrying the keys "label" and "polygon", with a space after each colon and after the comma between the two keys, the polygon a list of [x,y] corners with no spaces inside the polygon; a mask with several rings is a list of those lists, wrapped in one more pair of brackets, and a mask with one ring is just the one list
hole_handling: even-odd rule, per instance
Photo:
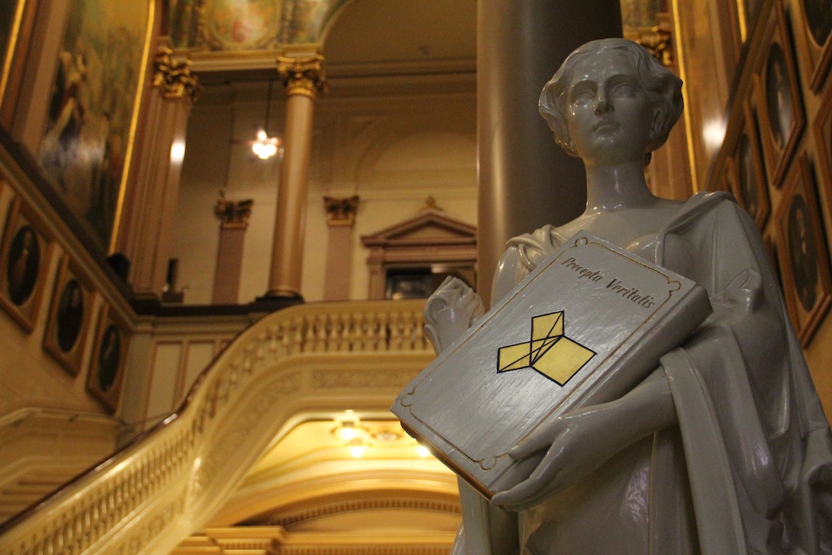
{"label": "curving cream staircase balustrade with carved balusters and side panel", "polygon": [[[169,553],[304,410],[389,406],[433,358],[423,301],[298,305],[250,326],[181,408],[0,528],[0,553]],[[353,391],[353,393],[356,393]]]}

